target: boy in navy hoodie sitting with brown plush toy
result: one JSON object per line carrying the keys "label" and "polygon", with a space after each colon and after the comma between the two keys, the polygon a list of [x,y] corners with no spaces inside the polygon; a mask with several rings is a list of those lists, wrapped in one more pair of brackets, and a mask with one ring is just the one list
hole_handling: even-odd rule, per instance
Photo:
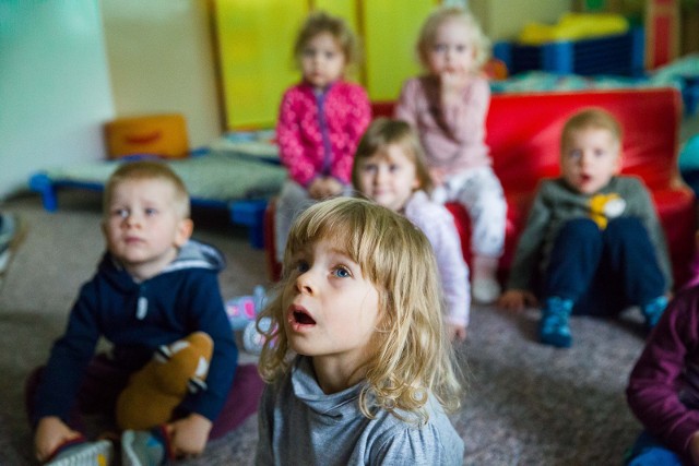
{"label": "boy in navy hoodie sitting with brown plush toy", "polygon": [[[238,351],[218,289],[224,259],[215,248],[190,240],[189,195],[164,164],[137,162],[115,171],[105,191],[102,227],[107,252],[83,285],[47,366],[27,385],[36,456],[42,462],[57,453],[67,461],[108,461],[111,444],[84,442],[76,415],[94,408],[114,414],[129,375],[158,346],[203,331],[214,343],[206,387],[188,395],[162,429],[169,455],[199,454],[210,437],[229,431],[253,413],[259,398],[240,399],[235,390],[239,384],[232,390]],[[108,357],[94,356],[100,337],[112,345]],[[257,378],[248,372],[239,372],[239,378]],[[247,382],[242,392],[261,393],[261,381]],[[259,389],[249,390],[250,384]],[[238,409],[229,409],[232,398]],[[131,437],[122,447],[138,450],[133,442]],[[165,455],[159,450],[158,456]],[[128,456],[127,464],[141,464],[138,452]]]}

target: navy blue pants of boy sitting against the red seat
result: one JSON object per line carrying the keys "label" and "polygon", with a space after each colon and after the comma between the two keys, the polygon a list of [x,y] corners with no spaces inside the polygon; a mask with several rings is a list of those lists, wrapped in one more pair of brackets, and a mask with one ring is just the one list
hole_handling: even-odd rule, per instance
{"label": "navy blue pants of boy sitting against the red seat", "polygon": [[576,218],[560,229],[544,277],[544,299],[570,299],[576,314],[616,315],[664,294],[665,278],[640,219],[615,218],[601,230],[589,218]]}

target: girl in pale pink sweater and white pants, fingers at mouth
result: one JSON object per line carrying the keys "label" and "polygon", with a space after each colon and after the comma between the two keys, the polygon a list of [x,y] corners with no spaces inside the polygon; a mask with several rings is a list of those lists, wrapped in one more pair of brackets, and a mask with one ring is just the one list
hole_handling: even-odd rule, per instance
{"label": "girl in pale pink sweater and white pants, fingers at mouth", "polygon": [[472,295],[493,302],[500,294],[507,204],[485,144],[490,88],[481,69],[488,40],[470,13],[442,8],[423,25],[417,52],[426,74],[405,82],[395,117],[417,130],[437,184],[433,199],[457,201],[469,212]]}

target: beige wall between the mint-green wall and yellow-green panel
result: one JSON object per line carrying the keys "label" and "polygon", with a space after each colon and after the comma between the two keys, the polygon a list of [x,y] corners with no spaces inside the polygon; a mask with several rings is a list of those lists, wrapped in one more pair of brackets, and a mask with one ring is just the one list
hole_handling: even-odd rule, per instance
{"label": "beige wall between the mint-green wall and yellow-green panel", "polygon": [[181,113],[192,148],[222,133],[209,3],[102,1],[117,117]]}

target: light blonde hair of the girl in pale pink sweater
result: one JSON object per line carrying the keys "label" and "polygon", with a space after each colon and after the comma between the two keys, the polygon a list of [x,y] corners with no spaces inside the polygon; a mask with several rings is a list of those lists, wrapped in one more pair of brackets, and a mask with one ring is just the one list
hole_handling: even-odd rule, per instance
{"label": "light blonde hair of the girl in pale pink sweater", "polygon": [[423,63],[424,68],[427,68],[428,55],[435,45],[437,29],[439,29],[439,26],[447,21],[453,20],[462,22],[471,32],[471,44],[473,45],[475,53],[474,68],[475,70],[481,70],[488,58],[490,58],[490,40],[483,33],[483,29],[475,16],[459,7],[442,7],[427,16],[427,20],[425,20],[425,23],[420,28],[416,45],[417,57],[419,58],[420,63]]}

